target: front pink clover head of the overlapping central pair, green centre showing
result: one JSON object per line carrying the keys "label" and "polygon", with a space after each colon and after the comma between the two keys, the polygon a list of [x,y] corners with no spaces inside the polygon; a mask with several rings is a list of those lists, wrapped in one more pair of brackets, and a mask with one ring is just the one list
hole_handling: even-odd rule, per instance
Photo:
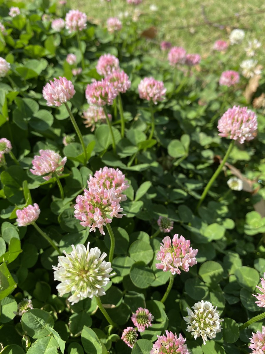
{"label": "front pink clover head of the overlapping central pair, green centre showing", "polygon": [[120,207],[120,197],[115,194],[115,188],[104,189],[89,188],[84,190],[84,195],[78,195],[75,205],[75,217],[84,227],[89,226],[89,232],[99,229],[105,235],[103,226],[112,222],[112,218],[121,218],[124,214]]}

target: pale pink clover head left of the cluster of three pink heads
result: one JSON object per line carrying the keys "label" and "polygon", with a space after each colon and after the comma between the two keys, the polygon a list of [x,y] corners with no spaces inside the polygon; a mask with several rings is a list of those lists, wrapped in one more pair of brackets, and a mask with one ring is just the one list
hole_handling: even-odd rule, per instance
{"label": "pale pink clover head left of the cluster of three pink heads", "polygon": [[47,101],[47,106],[60,107],[62,103],[69,101],[76,91],[70,80],[62,78],[50,80],[42,89],[43,98]]}

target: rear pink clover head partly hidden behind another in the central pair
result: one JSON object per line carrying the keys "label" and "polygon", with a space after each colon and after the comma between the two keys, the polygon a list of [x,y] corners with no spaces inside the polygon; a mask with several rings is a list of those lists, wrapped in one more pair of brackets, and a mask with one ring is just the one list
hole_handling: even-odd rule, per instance
{"label": "rear pink clover head partly hidden behind another in the central pair", "polygon": [[96,189],[97,186],[100,188],[115,189],[115,194],[121,201],[127,199],[125,194],[122,194],[123,191],[129,188],[128,181],[125,179],[125,175],[123,175],[122,171],[119,169],[113,169],[112,167],[103,167],[103,169],[99,169],[94,173],[94,176],[89,176],[88,188]]}

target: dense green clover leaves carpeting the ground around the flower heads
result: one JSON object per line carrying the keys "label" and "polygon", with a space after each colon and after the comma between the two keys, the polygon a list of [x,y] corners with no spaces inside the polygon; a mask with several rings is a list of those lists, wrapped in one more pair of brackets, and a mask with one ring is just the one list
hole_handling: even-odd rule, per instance
{"label": "dense green clover leaves carpeting the ground around the flower heads", "polygon": [[[20,14],[11,17],[11,6],[19,6]],[[64,18],[68,10],[48,1],[28,7],[0,2],[5,27],[0,33],[0,56],[10,63],[0,81],[0,136],[12,144],[10,154],[1,157],[0,175],[1,353],[149,354],[157,336],[166,331],[186,338],[192,354],[251,353],[250,338],[262,330],[265,315],[253,296],[260,293],[256,286],[265,272],[262,68],[257,63],[251,74],[243,76],[229,47],[213,51],[192,67],[173,68],[165,52],[160,58],[143,52],[146,39],[137,35],[137,22],[126,22],[114,33],[86,22],[79,37],[76,31],[51,28],[51,21]],[[69,53],[76,56],[76,63],[66,61]],[[119,59],[131,81],[130,89],[120,95],[123,111],[118,99],[104,106],[112,115],[111,130],[106,120],[86,127],[82,118],[89,107],[87,85],[102,79],[96,65],[106,53]],[[81,72],[72,72],[82,66]],[[225,70],[239,72],[239,81],[230,87],[219,85]],[[81,130],[85,152],[66,106],[49,107],[43,97],[43,86],[59,76],[74,86],[67,104]],[[151,76],[166,88],[165,99],[157,104],[139,97],[138,85]],[[234,105],[255,112],[258,131],[251,141],[235,142],[202,201],[207,183],[231,146],[230,139],[218,135],[218,120]],[[47,149],[67,160],[63,170],[57,169],[59,173],[46,181],[43,173],[37,176],[30,170],[34,156]],[[121,170],[129,184],[123,192],[127,199],[118,197],[120,213],[125,215],[112,218],[107,213],[111,223],[103,226],[105,235],[98,229],[89,232],[75,218],[74,208],[90,175],[104,166]],[[233,176],[243,181],[241,190],[227,184]],[[36,224],[18,226],[17,211],[34,203],[40,209]],[[173,228],[161,232],[159,217],[168,217]],[[102,305],[96,296],[76,303],[68,301],[70,291],[59,296],[52,268],[58,264],[59,252],[69,254],[71,245],[90,242],[90,249],[106,252],[107,262],[113,245],[110,225],[116,244],[106,295],[100,296]],[[160,242],[175,234],[198,249],[198,263],[188,272],[181,268],[173,277],[155,264]],[[169,293],[168,286],[172,286]],[[27,304],[32,309],[19,315],[23,299],[31,300]],[[222,330],[206,344],[187,331],[183,319],[187,308],[201,301],[217,307],[224,319]],[[121,337],[126,327],[134,325],[131,316],[138,308],[149,310],[152,326],[137,332],[131,349]],[[259,317],[251,321],[254,316]],[[152,354],[180,352],[163,350]]]}

